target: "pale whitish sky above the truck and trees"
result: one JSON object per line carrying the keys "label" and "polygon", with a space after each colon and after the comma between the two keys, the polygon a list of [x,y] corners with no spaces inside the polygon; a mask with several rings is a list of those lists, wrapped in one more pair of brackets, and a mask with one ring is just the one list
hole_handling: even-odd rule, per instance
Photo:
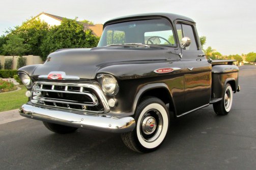
{"label": "pale whitish sky above the truck and trees", "polygon": [[131,14],[168,12],[192,18],[198,34],[207,37],[205,47],[223,55],[256,52],[255,0],[0,0],[0,6],[0,35],[41,12],[94,23]]}

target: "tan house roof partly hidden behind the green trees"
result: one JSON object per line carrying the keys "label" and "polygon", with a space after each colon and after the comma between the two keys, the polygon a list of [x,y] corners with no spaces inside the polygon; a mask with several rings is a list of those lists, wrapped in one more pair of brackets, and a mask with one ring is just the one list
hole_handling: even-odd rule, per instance
{"label": "tan house roof partly hidden behind the green trees", "polygon": [[[53,19],[56,19],[58,21],[62,21],[64,19],[64,17],[60,17],[60,16],[57,16],[57,15],[52,15],[52,14],[48,14],[48,13],[45,13],[45,12],[41,12],[40,14],[38,14],[36,17],[34,18],[37,18],[39,17],[40,15],[47,15]],[[103,31],[103,24],[88,24],[88,23],[84,23],[84,22],[80,22],[80,21],[76,21],[78,24],[82,24],[83,25],[83,28],[84,30],[87,30],[87,29],[92,29],[92,32],[95,36],[98,36],[100,37],[101,34],[102,34],[102,31]]]}

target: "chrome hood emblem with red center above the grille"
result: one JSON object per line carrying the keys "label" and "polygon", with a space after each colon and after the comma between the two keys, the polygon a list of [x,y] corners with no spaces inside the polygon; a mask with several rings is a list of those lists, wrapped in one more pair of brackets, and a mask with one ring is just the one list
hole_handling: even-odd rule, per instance
{"label": "chrome hood emblem with red center above the grille", "polygon": [[79,80],[77,76],[67,76],[65,72],[50,72],[48,75],[40,75],[39,79],[49,80]]}

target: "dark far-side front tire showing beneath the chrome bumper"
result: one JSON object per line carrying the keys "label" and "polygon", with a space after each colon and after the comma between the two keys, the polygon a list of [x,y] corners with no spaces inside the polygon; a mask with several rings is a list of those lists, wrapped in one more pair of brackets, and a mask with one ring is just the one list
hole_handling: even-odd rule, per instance
{"label": "dark far-side front tire showing beneath the chrome bumper", "polygon": [[49,123],[49,122],[43,122],[43,123],[47,129],[55,133],[66,134],[66,133],[72,133],[77,130],[76,127],[64,126],[64,125]]}

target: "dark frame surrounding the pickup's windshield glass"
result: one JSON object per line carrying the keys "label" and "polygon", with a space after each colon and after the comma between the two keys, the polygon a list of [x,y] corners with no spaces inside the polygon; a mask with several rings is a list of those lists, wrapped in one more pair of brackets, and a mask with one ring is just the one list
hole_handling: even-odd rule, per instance
{"label": "dark frame surrounding the pickup's windshield glass", "polygon": [[[145,45],[149,45],[149,46],[159,46],[159,47],[172,47],[172,48],[177,48],[178,47],[178,41],[177,41],[177,36],[176,36],[176,31],[175,31],[175,28],[174,28],[174,25],[173,23],[170,21],[169,18],[167,17],[164,17],[164,16],[143,16],[143,17],[135,17],[135,18],[122,18],[122,19],[119,19],[119,20],[112,20],[112,21],[107,21],[104,26],[103,26],[103,33],[104,33],[104,30],[105,28],[108,26],[108,25],[113,25],[113,24],[118,24],[118,23],[124,23],[124,22],[132,22],[132,21],[143,21],[143,20],[154,20],[154,19],[164,19],[164,20],[167,20],[167,23],[169,24],[170,28],[172,29],[172,32],[173,32],[173,36],[174,36],[174,42],[175,42],[175,45],[171,46],[171,45],[168,45],[168,44],[146,44]],[[100,41],[98,43],[98,46],[97,47],[106,47],[106,46],[109,46],[109,45],[105,45],[105,46],[100,46],[100,43],[101,43],[101,39],[106,39],[106,37],[103,37],[103,36],[106,36],[106,33],[103,34],[102,33],[102,36],[100,38]]]}

